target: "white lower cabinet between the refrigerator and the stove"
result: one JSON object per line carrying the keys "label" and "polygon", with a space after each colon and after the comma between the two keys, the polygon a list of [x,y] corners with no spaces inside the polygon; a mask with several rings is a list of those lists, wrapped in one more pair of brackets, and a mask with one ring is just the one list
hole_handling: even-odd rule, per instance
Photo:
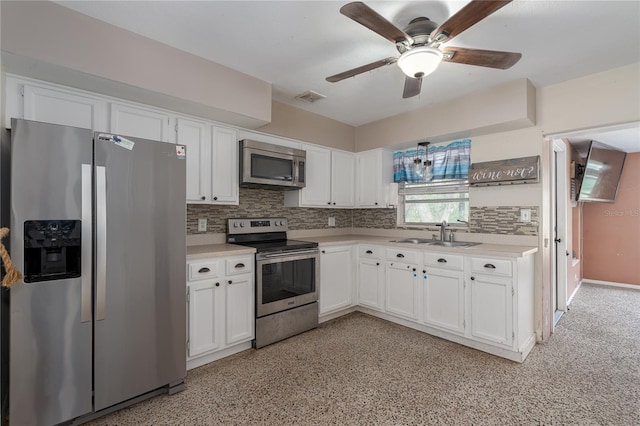
{"label": "white lower cabinet between the refrigerator and the stove", "polygon": [[253,256],[192,261],[187,270],[187,368],[251,347]]}

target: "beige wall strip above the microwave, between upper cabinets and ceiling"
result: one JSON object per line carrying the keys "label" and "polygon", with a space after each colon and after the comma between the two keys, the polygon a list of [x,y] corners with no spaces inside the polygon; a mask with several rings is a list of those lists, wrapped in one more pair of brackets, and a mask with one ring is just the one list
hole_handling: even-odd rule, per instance
{"label": "beige wall strip above the microwave, between upper cabinets and ceiling", "polygon": [[355,151],[353,126],[281,102],[273,102],[271,123],[257,130],[331,148]]}

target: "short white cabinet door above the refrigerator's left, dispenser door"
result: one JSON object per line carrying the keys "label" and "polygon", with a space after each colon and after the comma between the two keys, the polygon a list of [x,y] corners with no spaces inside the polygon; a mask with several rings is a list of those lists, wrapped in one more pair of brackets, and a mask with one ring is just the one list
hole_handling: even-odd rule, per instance
{"label": "short white cabinet door above the refrigerator's left, dispenser door", "polygon": [[104,107],[98,98],[37,86],[23,86],[26,120],[106,131]]}

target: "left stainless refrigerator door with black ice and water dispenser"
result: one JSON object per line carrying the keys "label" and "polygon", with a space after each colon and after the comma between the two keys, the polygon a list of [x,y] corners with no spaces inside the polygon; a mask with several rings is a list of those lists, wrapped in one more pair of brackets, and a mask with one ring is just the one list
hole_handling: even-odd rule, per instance
{"label": "left stainless refrigerator door with black ice and water dispenser", "polygon": [[[13,120],[11,136],[11,256],[34,279],[3,289],[10,294],[9,424],[52,425],[91,412],[92,133]],[[68,241],[56,236],[71,232],[81,250],[65,254]],[[33,257],[28,268],[25,252]],[[65,255],[75,262],[72,274],[60,273]]]}

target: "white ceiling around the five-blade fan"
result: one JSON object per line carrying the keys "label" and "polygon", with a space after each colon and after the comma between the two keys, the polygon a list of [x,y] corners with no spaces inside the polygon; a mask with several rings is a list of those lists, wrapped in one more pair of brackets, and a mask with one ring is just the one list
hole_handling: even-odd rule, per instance
{"label": "white ceiling around the five-blade fan", "polygon": [[[640,1],[515,0],[446,45],[521,52],[520,62],[509,70],[442,63],[420,96],[402,99],[396,65],[325,80],[397,56],[392,43],[340,14],[347,2],[56,1],[268,81],[275,100],[353,126],[519,78],[543,87],[640,62]],[[366,3],[403,28],[417,16],[442,23],[467,1]],[[306,90],[327,98],[295,99]]]}

